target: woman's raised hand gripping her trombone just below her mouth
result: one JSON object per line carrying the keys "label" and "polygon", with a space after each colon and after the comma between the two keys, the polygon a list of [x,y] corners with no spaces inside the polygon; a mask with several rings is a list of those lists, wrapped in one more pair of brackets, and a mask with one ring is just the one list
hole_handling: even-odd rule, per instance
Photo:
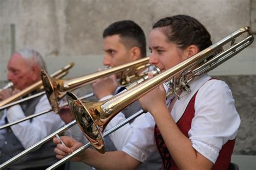
{"label": "woman's raised hand gripping her trombone just below her mouth", "polygon": [[[149,78],[152,77],[153,74],[149,73]],[[161,108],[166,108],[165,102],[166,92],[163,85],[159,85],[139,99],[139,103],[143,109],[150,112],[152,115],[159,113]]]}

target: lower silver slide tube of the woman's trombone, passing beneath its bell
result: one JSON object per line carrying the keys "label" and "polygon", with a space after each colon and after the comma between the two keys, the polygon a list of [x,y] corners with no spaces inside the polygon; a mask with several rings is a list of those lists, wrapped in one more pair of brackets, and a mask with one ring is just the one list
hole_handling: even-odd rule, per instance
{"label": "lower silver slide tube of the woman's trombone, passing beneath its bell", "polygon": [[[129,123],[130,121],[136,119],[137,117],[139,117],[139,115],[142,115],[143,113],[145,113],[145,111],[140,110],[137,113],[131,115],[129,118],[125,119],[124,121],[122,121],[122,123],[112,127],[109,131],[106,131],[103,135],[103,137],[107,137],[108,135],[110,135],[111,133],[113,133],[114,131],[118,130],[120,127],[126,125],[127,123]],[[75,157],[76,155],[78,155],[79,153],[82,153],[85,149],[91,147],[91,143],[88,142],[87,144],[85,144],[84,146],[78,148],[76,151],[74,151],[73,153],[71,153],[70,155],[66,156],[65,158],[59,160],[58,162],[56,162],[55,164],[53,164],[52,166],[46,168],[46,170],[49,169],[55,169],[57,167],[59,167],[60,165],[64,164],[66,161],[70,160],[71,158]]]}

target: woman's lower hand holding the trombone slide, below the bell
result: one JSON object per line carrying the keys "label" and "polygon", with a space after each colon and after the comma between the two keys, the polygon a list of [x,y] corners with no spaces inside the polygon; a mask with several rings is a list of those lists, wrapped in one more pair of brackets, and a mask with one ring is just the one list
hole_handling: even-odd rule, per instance
{"label": "woman's lower hand holding the trombone slide, below the bell", "polygon": [[[61,143],[60,139],[62,139],[66,146]],[[53,142],[57,144],[57,147],[54,149],[57,159],[62,159],[68,154],[71,154],[72,152],[83,146],[82,143],[70,137],[60,137],[60,139],[53,138]],[[81,161],[82,157],[83,155],[79,154],[76,157],[72,158],[71,161]]]}

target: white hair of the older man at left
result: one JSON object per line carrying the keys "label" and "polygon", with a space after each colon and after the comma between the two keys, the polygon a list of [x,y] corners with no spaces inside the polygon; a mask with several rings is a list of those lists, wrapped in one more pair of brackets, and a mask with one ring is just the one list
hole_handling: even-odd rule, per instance
{"label": "white hair of the older man at left", "polygon": [[46,65],[45,65],[44,59],[40,55],[40,53],[37,52],[36,50],[21,49],[21,50],[16,51],[16,53],[21,55],[22,58],[24,58],[25,60],[28,60],[30,62],[35,62],[40,67],[40,69],[46,70]]}

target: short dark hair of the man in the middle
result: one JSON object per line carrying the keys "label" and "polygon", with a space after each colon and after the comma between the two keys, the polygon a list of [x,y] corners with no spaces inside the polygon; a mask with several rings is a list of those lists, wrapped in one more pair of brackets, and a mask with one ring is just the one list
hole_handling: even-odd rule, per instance
{"label": "short dark hair of the man in the middle", "polygon": [[138,24],[130,20],[114,22],[104,30],[103,38],[113,35],[119,35],[121,43],[127,49],[137,46],[142,53],[142,57],[146,56],[146,38]]}

